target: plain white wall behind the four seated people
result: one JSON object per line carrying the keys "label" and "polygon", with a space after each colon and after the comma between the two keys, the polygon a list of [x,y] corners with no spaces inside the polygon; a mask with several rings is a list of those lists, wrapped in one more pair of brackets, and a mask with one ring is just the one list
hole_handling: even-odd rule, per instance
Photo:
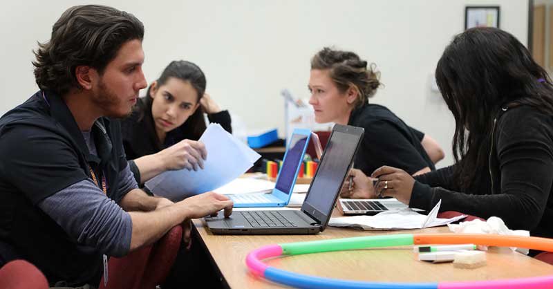
{"label": "plain white wall behind the four seated people", "polygon": [[[0,113],[37,90],[32,49],[82,1],[8,1],[0,10]],[[279,127],[281,88],[308,97],[310,57],[324,46],[375,62],[386,85],[373,102],[433,136],[450,165],[453,118],[430,90],[435,64],[462,32],[465,5],[500,5],[500,26],[527,43],[527,0],[97,1],[144,22],[144,71],[153,81],[172,59],[196,62],[207,92],[250,128]]]}

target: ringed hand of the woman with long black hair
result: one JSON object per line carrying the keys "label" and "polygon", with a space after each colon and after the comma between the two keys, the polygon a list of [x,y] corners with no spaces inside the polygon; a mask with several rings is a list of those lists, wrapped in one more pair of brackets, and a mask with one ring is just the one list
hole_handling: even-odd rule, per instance
{"label": "ringed hand of the woman with long black hair", "polygon": [[410,174],[402,169],[383,166],[376,169],[371,176],[378,178],[375,190],[379,196],[391,196],[409,205],[415,184],[415,179]]}

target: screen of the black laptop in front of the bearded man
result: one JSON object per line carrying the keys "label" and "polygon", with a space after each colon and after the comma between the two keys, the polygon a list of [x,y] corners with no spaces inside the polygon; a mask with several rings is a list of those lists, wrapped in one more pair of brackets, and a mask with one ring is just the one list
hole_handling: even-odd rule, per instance
{"label": "screen of the black laptop in front of the bearded man", "polygon": [[317,211],[324,214],[332,211],[336,193],[341,189],[359,138],[359,135],[352,133],[332,132],[305,201]]}

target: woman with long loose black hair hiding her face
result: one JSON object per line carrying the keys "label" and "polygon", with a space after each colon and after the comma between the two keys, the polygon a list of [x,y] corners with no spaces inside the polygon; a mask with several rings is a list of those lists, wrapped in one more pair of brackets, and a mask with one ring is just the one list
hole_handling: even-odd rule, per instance
{"label": "woman with long loose black hair hiding her face", "polygon": [[[521,42],[497,28],[454,37],[435,76],[456,120],[455,164],[414,179],[380,167],[374,190],[419,209],[442,200],[440,211],[498,216],[511,229],[553,237],[550,77]],[[368,182],[357,184],[375,196]]]}

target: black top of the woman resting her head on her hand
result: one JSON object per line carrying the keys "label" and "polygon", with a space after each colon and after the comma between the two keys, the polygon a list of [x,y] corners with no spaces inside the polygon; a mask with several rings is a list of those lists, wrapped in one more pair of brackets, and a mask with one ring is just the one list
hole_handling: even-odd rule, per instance
{"label": "black top of the woman resting her head on her hand", "polygon": [[[135,109],[128,118],[121,122],[123,133],[123,146],[127,160],[134,160],[142,156],[148,156],[158,153],[171,145],[175,145],[181,140],[198,140],[200,136],[194,135],[190,125],[185,122],[180,127],[169,131],[165,137],[165,142],[161,143],[151,114],[151,99],[147,97],[138,98]],[[221,127],[232,133],[230,126],[230,114],[228,111],[220,111],[207,115],[209,122],[221,124]],[[135,176],[136,182],[140,185],[140,171],[134,162],[129,162],[131,171]]]}

